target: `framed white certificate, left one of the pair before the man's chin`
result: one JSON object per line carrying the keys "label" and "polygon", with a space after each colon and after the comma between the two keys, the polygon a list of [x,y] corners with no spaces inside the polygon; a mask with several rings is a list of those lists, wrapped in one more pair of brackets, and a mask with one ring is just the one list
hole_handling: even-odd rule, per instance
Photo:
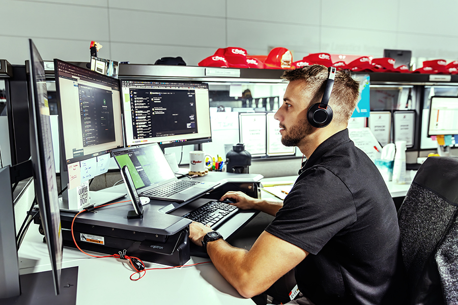
{"label": "framed white certificate, left one of the pair before the man's chin", "polygon": [[251,156],[265,156],[266,143],[266,113],[240,113],[240,143],[245,144],[245,150]]}

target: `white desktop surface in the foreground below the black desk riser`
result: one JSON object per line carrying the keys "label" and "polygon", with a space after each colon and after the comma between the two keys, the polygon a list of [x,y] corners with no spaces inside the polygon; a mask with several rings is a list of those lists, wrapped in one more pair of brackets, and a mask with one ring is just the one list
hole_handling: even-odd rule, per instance
{"label": "white desktop surface in the foreground below the black desk riser", "polygon": [[[51,269],[47,246],[38,226],[32,224],[19,249],[20,274]],[[91,253],[95,254],[95,253]],[[96,254],[97,255],[97,254]],[[209,261],[191,257],[187,264]],[[63,268],[79,266],[77,304],[253,304],[219,274],[212,263],[187,268],[149,270],[131,281],[132,268],[115,258],[90,258],[64,247]],[[147,268],[167,267],[148,264]],[[51,285],[52,283],[50,283]],[[137,294],[134,295],[133,292]]]}

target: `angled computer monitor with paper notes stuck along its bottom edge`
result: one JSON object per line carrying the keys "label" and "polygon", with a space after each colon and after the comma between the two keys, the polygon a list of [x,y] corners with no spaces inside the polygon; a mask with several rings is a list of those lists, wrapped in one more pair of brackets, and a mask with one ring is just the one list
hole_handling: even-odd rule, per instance
{"label": "angled computer monitor with paper notes stuck along its bottom edge", "polygon": [[54,71],[61,160],[70,164],[123,147],[119,81],[59,59]]}

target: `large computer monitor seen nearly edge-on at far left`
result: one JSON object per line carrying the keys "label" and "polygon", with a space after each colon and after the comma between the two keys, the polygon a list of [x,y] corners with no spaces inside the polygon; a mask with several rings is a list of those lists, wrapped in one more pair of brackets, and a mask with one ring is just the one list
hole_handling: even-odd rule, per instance
{"label": "large computer monitor seen nearly edge-on at far left", "polygon": [[51,142],[48,96],[43,60],[32,40],[30,44],[30,147],[34,168],[35,196],[45,231],[55,294],[60,293],[62,268],[62,232]]}

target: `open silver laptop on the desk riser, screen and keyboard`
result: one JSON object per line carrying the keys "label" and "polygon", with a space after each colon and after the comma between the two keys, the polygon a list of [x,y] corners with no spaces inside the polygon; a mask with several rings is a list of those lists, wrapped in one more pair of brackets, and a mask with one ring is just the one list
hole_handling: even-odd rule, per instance
{"label": "open silver laptop on the desk riser, screen and keyboard", "polygon": [[219,183],[178,179],[157,143],[112,149],[119,168],[127,165],[139,196],[184,202],[214,189]]}

